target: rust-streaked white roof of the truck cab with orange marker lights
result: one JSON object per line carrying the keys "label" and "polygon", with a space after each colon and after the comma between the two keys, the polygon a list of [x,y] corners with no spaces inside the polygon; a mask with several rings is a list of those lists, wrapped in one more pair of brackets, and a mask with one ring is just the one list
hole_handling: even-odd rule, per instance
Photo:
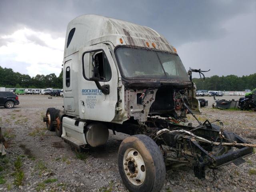
{"label": "rust-streaked white roof of the truck cab with orange marker lights", "polygon": [[176,49],[164,36],[149,27],[100,15],[86,14],[68,23],[64,58],[79,51],[80,48],[102,42],[111,42],[113,46],[130,45],[176,53]]}

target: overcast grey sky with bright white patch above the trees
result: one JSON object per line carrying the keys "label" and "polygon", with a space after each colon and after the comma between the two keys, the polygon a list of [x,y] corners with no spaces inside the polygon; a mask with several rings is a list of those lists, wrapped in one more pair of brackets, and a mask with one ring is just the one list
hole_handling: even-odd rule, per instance
{"label": "overcast grey sky with bright white patch above the trees", "polygon": [[186,70],[256,73],[256,0],[0,0],[0,66],[58,76],[66,26],[81,14],[153,28],[176,47]]}

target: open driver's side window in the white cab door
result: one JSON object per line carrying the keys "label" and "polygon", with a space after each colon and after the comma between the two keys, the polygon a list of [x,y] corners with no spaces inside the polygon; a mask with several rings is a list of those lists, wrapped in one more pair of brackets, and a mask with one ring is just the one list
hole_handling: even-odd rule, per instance
{"label": "open driver's side window in the white cab door", "polygon": [[99,81],[109,81],[112,75],[108,58],[103,51],[84,54],[83,70],[84,77],[87,80],[98,78]]}

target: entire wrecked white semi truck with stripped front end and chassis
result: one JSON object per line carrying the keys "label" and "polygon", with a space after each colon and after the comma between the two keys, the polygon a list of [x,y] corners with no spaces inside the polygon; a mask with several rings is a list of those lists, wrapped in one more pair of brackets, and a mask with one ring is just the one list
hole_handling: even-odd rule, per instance
{"label": "entire wrecked white semi truck with stripped front end and chassis", "polygon": [[190,165],[204,179],[206,168],[241,162],[253,148],[220,120],[186,123],[186,114],[200,113],[191,73],[155,30],[78,16],[66,32],[64,109],[48,108],[44,122],[79,150],[104,145],[109,130],[130,135],[117,166],[131,192],[159,191],[166,169],[178,166]]}

